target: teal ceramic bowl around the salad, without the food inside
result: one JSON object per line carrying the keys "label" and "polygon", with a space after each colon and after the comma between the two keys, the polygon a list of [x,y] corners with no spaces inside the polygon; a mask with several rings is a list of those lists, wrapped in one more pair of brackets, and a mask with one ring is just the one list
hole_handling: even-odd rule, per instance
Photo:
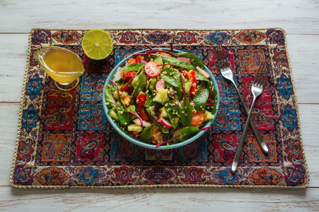
{"label": "teal ceramic bowl around the salad, without the food inside", "polygon": [[[158,50],[158,48],[154,48],[154,50]],[[168,48],[162,48],[162,50],[165,50],[165,51],[170,51],[170,49]],[[146,50],[143,50],[143,51],[139,51],[139,52],[136,52],[136,53],[144,53],[146,51],[149,51],[148,49]],[[182,51],[179,51],[179,50],[174,50],[174,52],[178,53],[178,52],[182,52]],[[130,136],[130,135],[127,135],[125,133],[123,133],[118,127],[117,127],[117,124],[113,121],[113,119],[108,115],[108,107],[106,106],[105,104],[105,99],[104,99],[104,96],[105,96],[105,86],[108,85],[108,84],[111,84],[110,82],[110,79],[112,80],[113,79],[113,76],[114,74],[116,73],[116,70],[117,68],[120,66],[120,67],[123,67],[125,65],[125,61],[130,59],[132,57],[132,55],[130,55],[129,57],[123,59],[119,64],[117,64],[114,69],[109,73],[108,75],[108,78],[106,79],[106,82],[105,82],[105,85],[104,85],[104,89],[103,89],[103,96],[102,96],[102,100],[103,100],[103,108],[104,108],[104,112],[106,114],[106,118],[108,119],[108,122],[112,125],[112,127],[115,129],[115,131],[117,133],[119,133],[123,138],[125,138],[126,140],[129,140],[130,142],[132,142],[133,144],[136,144],[138,146],[141,146],[141,147],[145,147],[145,148],[149,148],[149,149],[155,149],[155,145],[152,145],[150,143],[145,143],[141,140],[138,140],[137,138],[133,137],[133,136]],[[212,81],[213,85],[214,85],[214,89],[217,90],[217,106],[219,106],[219,90],[218,90],[218,86],[217,86],[217,83],[216,83],[216,80],[214,78],[214,76],[211,74],[211,72],[209,71],[209,69],[205,66],[205,71],[209,74],[209,79]],[[216,113],[214,114],[215,118],[216,118],[216,115],[218,113],[218,108],[216,110]],[[210,127],[213,123],[213,121],[215,120],[212,119],[212,120],[209,120],[208,122],[206,122],[204,124],[203,127]],[[182,147],[182,146],[185,146],[191,142],[193,142],[194,140],[197,140],[199,137],[201,137],[205,132],[207,131],[206,130],[202,130],[202,131],[199,131],[197,134],[195,134],[193,137],[191,137],[190,139],[188,140],[185,140],[185,141],[182,141],[182,142],[179,142],[177,144],[172,144],[172,145],[169,145],[169,147],[167,147],[167,145],[163,145],[163,146],[159,146],[157,147],[156,149],[173,149],[173,148],[178,148],[178,147]]]}

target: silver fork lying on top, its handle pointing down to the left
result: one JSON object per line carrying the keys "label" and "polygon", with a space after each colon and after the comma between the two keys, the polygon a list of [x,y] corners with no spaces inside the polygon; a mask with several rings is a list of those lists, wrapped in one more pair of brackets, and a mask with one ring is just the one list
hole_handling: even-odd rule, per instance
{"label": "silver fork lying on top, its handle pointing down to the left", "polygon": [[256,72],[256,76],[255,76],[255,79],[253,81],[253,84],[251,85],[251,92],[253,93],[254,99],[253,99],[253,102],[251,103],[251,107],[250,107],[250,110],[249,110],[249,113],[248,113],[247,121],[246,121],[245,128],[244,128],[244,132],[242,133],[241,140],[239,142],[239,145],[238,145],[235,157],[234,157],[234,161],[233,161],[232,169],[231,169],[232,173],[236,172],[236,169],[237,169],[237,166],[238,166],[238,162],[239,162],[239,158],[240,158],[240,155],[241,155],[242,147],[243,147],[244,142],[245,142],[247,128],[248,128],[248,125],[249,125],[249,119],[250,119],[250,116],[251,116],[251,112],[253,111],[256,98],[257,98],[257,96],[259,96],[263,92],[263,87],[265,85],[266,78],[267,78],[268,71],[269,71],[269,65],[268,64],[266,65],[266,69],[265,70],[264,70],[264,67],[265,67],[265,65],[263,65],[263,66],[260,65],[259,70]]}

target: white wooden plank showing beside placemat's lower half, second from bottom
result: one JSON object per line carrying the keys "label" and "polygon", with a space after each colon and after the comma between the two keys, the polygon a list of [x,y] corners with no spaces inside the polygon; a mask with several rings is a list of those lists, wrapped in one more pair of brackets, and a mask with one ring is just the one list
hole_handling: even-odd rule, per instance
{"label": "white wooden plank showing beside placemat's lower half, second from bottom", "polygon": [[[319,105],[299,105],[301,134],[310,171],[311,187],[319,187]],[[8,186],[15,148],[19,103],[0,103],[0,186]]]}

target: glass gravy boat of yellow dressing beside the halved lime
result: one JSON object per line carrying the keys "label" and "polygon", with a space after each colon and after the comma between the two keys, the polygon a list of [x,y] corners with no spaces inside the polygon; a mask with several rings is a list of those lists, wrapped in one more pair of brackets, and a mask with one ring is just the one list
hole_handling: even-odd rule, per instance
{"label": "glass gravy boat of yellow dressing beside the halved lime", "polygon": [[69,91],[78,85],[79,77],[85,70],[77,54],[57,46],[44,47],[35,54],[35,58],[58,89]]}

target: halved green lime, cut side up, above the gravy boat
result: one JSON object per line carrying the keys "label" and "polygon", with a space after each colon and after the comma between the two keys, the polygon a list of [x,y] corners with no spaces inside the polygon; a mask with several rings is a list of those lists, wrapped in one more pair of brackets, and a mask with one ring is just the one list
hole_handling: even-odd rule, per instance
{"label": "halved green lime, cut side up, above the gravy boat", "polygon": [[88,58],[102,60],[113,51],[113,41],[107,31],[95,29],[85,33],[82,48]]}

